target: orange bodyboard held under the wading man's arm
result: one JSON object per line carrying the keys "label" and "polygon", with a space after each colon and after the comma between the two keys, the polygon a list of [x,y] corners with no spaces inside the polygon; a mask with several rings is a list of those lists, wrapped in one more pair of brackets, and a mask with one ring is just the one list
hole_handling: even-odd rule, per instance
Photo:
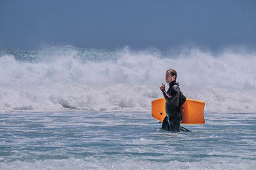
{"label": "orange bodyboard held under the wading man's arm", "polygon": [[[205,124],[204,121],[204,101],[186,99],[181,107],[182,124]],[[152,101],[152,117],[163,122],[165,113],[165,99],[159,98]]]}

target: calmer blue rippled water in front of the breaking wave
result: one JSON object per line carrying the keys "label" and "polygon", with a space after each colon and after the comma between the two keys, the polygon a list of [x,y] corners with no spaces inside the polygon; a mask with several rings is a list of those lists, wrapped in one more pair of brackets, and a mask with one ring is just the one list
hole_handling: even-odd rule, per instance
{"label": "calmer blue rippled water in front of the breaking wave", "polygon": [[150,111],[5,111],[0,169],[255,169],[256,113],[170,133]]}

